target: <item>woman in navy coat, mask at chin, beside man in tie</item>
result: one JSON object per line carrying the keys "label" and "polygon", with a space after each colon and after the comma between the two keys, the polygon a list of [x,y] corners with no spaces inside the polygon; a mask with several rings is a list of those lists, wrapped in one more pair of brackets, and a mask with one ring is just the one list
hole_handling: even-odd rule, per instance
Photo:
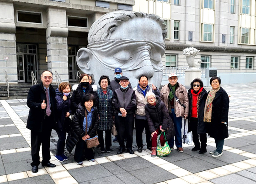
{"label": "woman in navy coat, mask at chin, beside man in tie", "polygon": [[64,155],[64,147],[66,140],[66,133],[69,131],[71,115],[71,100],[70,100],[71,86],[69,83],[64,82],[59,84],[59,89],[56,89],[56,106],[57,106],[57,127],[56,132],[59,140],[57,143],[57,150],[55,159],[59,162],[68,160],[67,156]]}

